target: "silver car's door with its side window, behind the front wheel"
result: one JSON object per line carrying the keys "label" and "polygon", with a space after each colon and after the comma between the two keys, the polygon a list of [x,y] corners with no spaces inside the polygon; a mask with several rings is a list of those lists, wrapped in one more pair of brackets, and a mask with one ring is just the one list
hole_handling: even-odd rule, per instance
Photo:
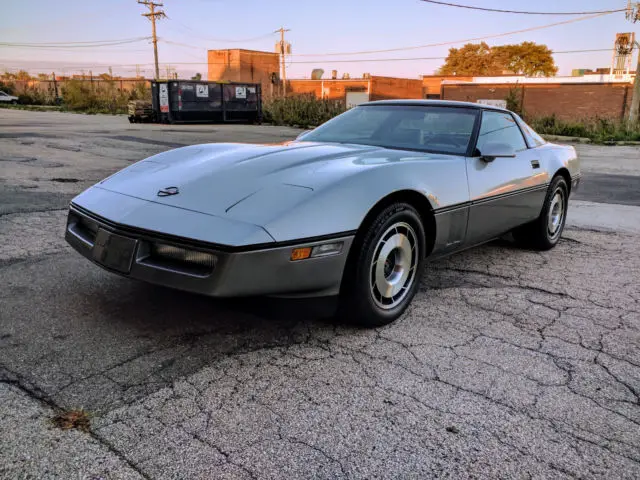
{"label": "silver car's door with its side window, behind the front wheel", "polygon": [[[487,161],[482,149],[489,143],[508,145],[515,157]],[[474,156],[467,158],[468,243],[499,236],[539,215],[548,175],[537,154],[509,112],[483,111]]]}

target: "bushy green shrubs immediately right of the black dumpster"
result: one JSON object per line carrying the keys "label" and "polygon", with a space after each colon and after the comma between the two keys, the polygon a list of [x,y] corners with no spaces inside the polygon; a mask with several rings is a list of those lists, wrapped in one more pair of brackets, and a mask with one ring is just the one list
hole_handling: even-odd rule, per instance
{"label": "bushy green shrubs immediately right of the black dumpster", "polygon": [[274,125],[308,128],[320,125],[346,110],[344,102],[296,95],[265,100],[263,120]]}

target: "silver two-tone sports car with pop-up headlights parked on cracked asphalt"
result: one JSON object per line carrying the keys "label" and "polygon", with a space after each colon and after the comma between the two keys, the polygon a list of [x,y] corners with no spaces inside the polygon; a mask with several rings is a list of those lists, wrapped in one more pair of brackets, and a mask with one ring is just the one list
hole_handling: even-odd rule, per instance
{"label": "silver two-tone sports car with pop-up headlights parked on cracked asphalt", "polygon": [[486,105],[369,102],[295,141],[177,148],[73,199],[67,241],[127,277],[215,297],[339,295],[402,314],[426,260],[505,233],[547,250],[580,179],[571,146]]}

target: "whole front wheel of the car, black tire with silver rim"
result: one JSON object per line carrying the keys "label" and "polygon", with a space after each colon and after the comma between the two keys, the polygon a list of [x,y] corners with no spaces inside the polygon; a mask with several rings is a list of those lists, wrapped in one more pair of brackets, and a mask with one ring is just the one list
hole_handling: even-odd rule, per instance
{"label": "whole front wheel of the car, black tire with silver rim", "polygon": [[402,315],[418,290],[425,232],[406,203],[388,206],[365,228],[347,260],[338,314],[349,323],[380,327]]}

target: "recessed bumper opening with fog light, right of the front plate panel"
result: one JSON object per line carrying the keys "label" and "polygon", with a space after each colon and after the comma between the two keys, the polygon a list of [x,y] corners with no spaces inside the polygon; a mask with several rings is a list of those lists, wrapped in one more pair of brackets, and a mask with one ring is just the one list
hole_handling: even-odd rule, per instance
{"label": "recessed bumper opening with fog light, right of the front plate panel", "polygon": [[164,243],[151,243],[141,263],[197,277],[213,273],[217,257],[208,252],[190,250]]}

